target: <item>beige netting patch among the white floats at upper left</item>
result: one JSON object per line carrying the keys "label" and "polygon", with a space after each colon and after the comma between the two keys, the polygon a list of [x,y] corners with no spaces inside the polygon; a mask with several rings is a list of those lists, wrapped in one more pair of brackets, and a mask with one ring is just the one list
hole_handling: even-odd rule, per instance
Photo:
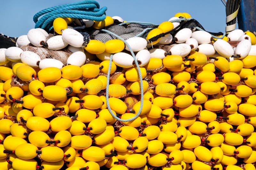
{"label": "beige netting patch among the white floats at upper left", "polygon": [[62,50],[49,50],[44,47],[35,47],[35,46],[21,46],[23,51],[32,51],[40,56],[41,60],[43,59],[56,59],[63,63],[63,65],[67,65],[68,57],[72,54],[67,49]]}

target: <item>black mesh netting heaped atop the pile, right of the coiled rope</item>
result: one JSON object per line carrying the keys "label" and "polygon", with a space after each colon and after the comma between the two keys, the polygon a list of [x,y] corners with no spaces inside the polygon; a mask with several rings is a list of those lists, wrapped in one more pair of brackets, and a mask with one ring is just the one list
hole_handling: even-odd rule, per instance
{"label": "black mesh netting heaped atop the pile, right of the coiled rope", "polygon": [[[138,34],[140,34],[140,37],[146,39],[148,32],[150,32],[150,30],[144,31],[146,28],[157,28],[158,25],[142,25],[142,24],[124,24],[124,25],[118,25],[118,24],[113,24],[110,25],[108,27],[105,27],[105,30],[108,30],[110,32],[115,33],[116,35],[122,37],[123,39],[129,39],[132,37],[137,36]],[[181,21],[180,25],[177,26],[176,28],[174,28],[173,30],[171,30],[170,32],[166,32],[160,35],[157,35],[156,37],[153,37],[151,39],[149,39],[149,41],[155,41],[156,39],[160,38],[160,37],[164,37],[164,35],[166,34],[172,34],[172,36],[174,36],[178,31],[180,31],[183,28],[189,28],[192,31],[196,31],[196,27],[199,27],[201,29],[204,29],[204,27],[195,19],[191,19],[188,21]],[[88,32],[90,34],[90,39],[96,39],[99,40],[103,43],[105,43],[106,41],[110,40],[110,39],[116,39],[116,37],[113,37],[112,35],[103,32],[101,30],[96,30],[93,28],[89,28],[86,29],[86,32]],[[214,36],[219,36],[219,35],[223,35],[222,32],[218,32],[218,33],[214,33],[214,32],[209,32],[210,34],[214,35]]]}

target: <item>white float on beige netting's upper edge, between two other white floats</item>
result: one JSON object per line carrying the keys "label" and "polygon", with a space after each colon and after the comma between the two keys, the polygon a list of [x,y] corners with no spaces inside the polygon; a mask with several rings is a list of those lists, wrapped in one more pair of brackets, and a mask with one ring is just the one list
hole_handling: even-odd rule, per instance
{"label": "white float on beige netting's upper edge, between two other white floats", "polygon": [[50,50],[60,50],[68,46],[68,43],[63,40],[62,35],[56,35],[52,38],[49,38],[46,43],[48,45],[47,48]]}

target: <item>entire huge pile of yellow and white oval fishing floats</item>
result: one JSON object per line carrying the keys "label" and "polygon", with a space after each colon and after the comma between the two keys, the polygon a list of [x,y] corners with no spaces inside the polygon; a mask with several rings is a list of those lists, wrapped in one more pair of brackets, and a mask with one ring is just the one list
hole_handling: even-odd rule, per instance
{"label": "entire huge pile of yellow and white oval fishing floats", "polygon": [[[178,13],[170,20],[180,16],[191,18]],[[102,29],[113,18],[84,22]],[[112,112],[129,119],[140,109],[140,79],[130,48],[118,39],[90,40],[83,48],[83,36],[67,28],[72,21],[55,19],[59,35],[48,40],[43,29],[31,29],[17,47],[0,49],[0,169],[255,170],[254,34],[234,30],[216,40],[184,28],[148,42],[179,25],[166,21],[147,39],[127,39],[143,78],[143,109],[135,120],[118,122],[104,95],[111,54]],[[237,41],[235,51],[229,41]],[[20,48],[30,43],[72,54],[67,65],[41,60]],[[170,51],[156,48],[170,43],[176,44]],[[85,63],[88,57],[97,61]],[[17,78],[23,86],[12,86]]]}

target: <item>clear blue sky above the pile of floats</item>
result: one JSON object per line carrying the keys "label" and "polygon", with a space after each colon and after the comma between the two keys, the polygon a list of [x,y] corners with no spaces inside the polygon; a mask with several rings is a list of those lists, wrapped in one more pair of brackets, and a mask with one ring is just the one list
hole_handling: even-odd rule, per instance
{"label": "clear blue sky above the pile of floats", "polygon": [[[69,4],[77,0],[2,0],[0,33],[11,37],[27,34],[34,28],[33,16],[45,8]],[[160,24],[178,12],[187,12],[210,32],[225,32],[226,12],[220,0],[98,0],[107,6],[108,16],[120,16],[126,21]]]}

